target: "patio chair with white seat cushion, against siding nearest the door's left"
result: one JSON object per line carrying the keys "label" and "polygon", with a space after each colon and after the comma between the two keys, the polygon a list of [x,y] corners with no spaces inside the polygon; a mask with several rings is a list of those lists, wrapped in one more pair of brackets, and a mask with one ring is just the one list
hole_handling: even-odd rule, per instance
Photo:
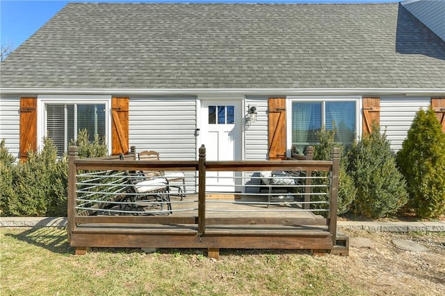
{"label": "patio chair with white seat cushion, against siding nearest the door's left", "polygon": [[[154,150],[145,150],[139,153],[139,160],[161,160],[159,153]],[[146,177],[162,176],[170,184],[170,188],[178,190],[178,196],[183,200],[186,196],[186,176],[184,172],[144,171]],[[181,185],[175,183],[181,182]],[[173,184],[172,184],[173,183]]]}

